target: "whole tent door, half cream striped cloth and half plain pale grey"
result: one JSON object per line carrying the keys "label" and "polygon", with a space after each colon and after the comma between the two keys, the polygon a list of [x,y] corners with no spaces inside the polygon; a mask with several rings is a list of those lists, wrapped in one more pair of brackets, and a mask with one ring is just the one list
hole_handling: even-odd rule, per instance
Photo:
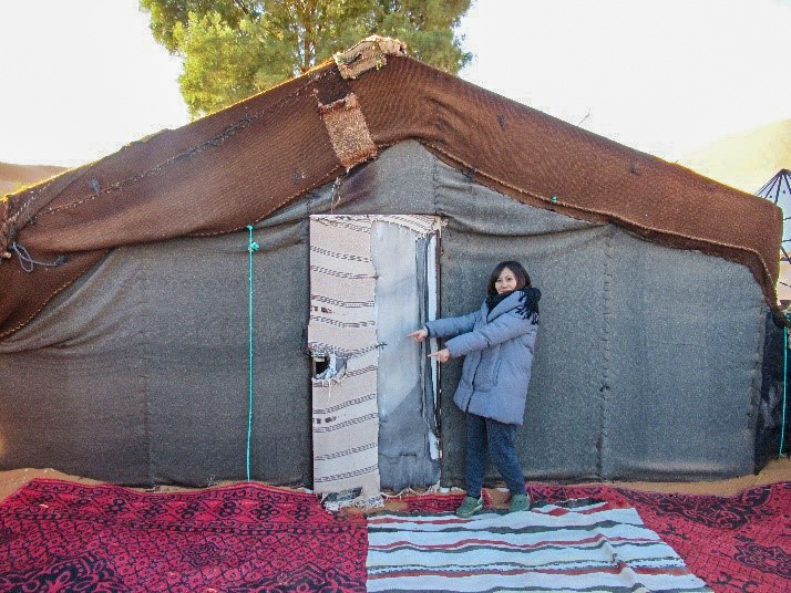
{"label": "whole tent door, half cream striped cloth and half plain pale grey", "polygon": [[419,215],[310,217],[317,492],[439,480],[436,368],[405,337],[435,318],[439,229]]}

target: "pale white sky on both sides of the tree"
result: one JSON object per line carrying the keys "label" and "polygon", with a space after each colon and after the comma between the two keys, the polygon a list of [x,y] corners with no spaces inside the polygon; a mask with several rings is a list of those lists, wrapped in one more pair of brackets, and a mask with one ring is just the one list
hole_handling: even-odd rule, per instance
{"label": "pale white sky on both sides of the tree", "polygon": [[[76,166],[188,123],[137,0],[0,0],[0,162]],[[480,86],[668,160],[791,118],[791,0],[477,0]]]}

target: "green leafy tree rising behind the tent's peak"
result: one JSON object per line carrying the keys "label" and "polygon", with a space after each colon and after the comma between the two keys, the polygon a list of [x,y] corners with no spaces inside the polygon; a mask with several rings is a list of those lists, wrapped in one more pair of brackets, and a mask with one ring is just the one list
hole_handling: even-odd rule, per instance
{"label": "green leafy tree rising behind the tent's peak", "polygon": [[140,0],[154,39],[179,55],[193,117],[307,72],[377,33],[455,74],[472,54],[454,34],[470,0]]}

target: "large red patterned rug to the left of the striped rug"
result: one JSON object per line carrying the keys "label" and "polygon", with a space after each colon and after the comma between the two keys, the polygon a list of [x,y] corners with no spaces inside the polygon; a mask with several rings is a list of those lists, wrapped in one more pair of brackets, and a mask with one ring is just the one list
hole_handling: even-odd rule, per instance
{"label": "large red patterned rug to the left of the striped rug", "polygon": [[366,591],[366,519],[260,485],[33,480],[0,504],[0,591]]}

